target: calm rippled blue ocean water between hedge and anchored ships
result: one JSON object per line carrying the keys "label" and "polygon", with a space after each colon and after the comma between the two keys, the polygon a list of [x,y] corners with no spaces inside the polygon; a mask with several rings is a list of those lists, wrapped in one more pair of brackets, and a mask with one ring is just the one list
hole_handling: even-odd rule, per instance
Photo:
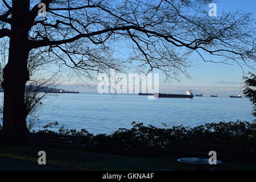
{"label": "calm rippled blue ocean water between hedge and anchored ships", "polygon": [[[253,106],[247,98],[194,97],[158,98],[125,94],[56,94],[48,96],[39,110],[34,129],[57,121],[66,129],[86,129],[90,133],[111,134],[130,128],[131,122],[163,127],[198,126],[221,121],[253,122]],[[53,128],[55,129],[55,128]]]}

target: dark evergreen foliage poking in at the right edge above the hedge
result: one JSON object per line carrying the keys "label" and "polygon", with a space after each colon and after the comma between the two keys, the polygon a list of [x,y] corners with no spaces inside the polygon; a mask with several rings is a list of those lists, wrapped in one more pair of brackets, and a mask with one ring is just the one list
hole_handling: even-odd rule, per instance
{"label": "dark evergreen foliage poking in at the right edge above the hedge", "polygon": [[244,78],[245,89],[243,90],[243,94],[245,94],[245,97],[249,98],[254,105],[252,114],[256,117],[256,75],[253,73],[249,73],[249,75],[249,77]]}

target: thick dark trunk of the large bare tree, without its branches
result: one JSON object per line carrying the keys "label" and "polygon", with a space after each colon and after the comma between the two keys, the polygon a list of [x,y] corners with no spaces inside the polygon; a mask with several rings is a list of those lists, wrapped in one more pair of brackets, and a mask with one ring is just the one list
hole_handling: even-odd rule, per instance
{"label": "thick dark trunk of the large bare tree, without its branches", "polygon": [[9,59],[3,69],[3,131],[16,142],[22,141],[28,131],[24,102],[25,85],[29,80],[28,12],[28,0],[13,1]]}

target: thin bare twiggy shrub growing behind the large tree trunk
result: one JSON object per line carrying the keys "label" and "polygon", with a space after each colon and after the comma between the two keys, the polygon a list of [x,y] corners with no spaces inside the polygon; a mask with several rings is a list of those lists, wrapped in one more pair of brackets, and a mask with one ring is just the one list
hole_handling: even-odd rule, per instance
{"label": "thin bare twiggy shrub growing behind the large tree trunk", "polygon": [[[0,61],[0,80],[3,81],[3,69],[6,66],[7,59],[7,45],[8,40],[0,42],[0,50],[2,55],[2,61]],[[49,66],[47,63],[50,60],[45,60],[41,51],[32,50],[28,56],[27,68],[30,73],[30,81],[27,82],[24,92],[24,102],[26,105],[26,125],[28,130],[31,131],[35,124],[35,120],[38,119],[39,107],[42,107],[43,100],[50,94],[49,91],[55,90],[57,84],[56,80],[60,80],[58,74],[55,72],[53,75],[44,74],[44,71]],[[48,70],[49,71],[49,70]],[[45,92],[47,91],[47,92]],[[1,114],[3,113],[3,106],[0,107]]]}

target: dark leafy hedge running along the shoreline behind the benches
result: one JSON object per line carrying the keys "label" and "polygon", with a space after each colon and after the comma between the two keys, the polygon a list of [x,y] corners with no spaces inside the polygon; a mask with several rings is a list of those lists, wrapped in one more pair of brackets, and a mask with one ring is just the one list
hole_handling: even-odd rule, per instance
{"label": "dark leafy hedge running along the shoreline behind the benches", "polygon": [[58,123],[44,126],[38,133],[75,135],[82,137],[88,150],[119,155],[168,155],[168,142],[218,144],[228,146],[232,154],[253,155],[256,151],[256,123],[220,122],[207,123],[194,128],[173,126],[157,128],[143,123],[132,123],[131,129],[119,129],[111,135],[93,135],[82,129],[68,130],[60,127],[58,131],[49,130]]}

